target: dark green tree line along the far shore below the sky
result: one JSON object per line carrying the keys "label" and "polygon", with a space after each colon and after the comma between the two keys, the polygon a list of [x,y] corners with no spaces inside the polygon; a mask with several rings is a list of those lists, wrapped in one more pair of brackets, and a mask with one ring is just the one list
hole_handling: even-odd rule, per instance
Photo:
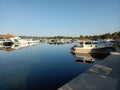
{"label": "dark green tree line along the far shore below the sky", "polygon": [[72,37],[72,36],[51,36],[51,37],[39,37],[39,36],[20,36],[24,39],[120,39],[120,31],[114,33],[106,33],[102,35],[92,35],[92,36],[83,36],[80,35],[79,37]]}

